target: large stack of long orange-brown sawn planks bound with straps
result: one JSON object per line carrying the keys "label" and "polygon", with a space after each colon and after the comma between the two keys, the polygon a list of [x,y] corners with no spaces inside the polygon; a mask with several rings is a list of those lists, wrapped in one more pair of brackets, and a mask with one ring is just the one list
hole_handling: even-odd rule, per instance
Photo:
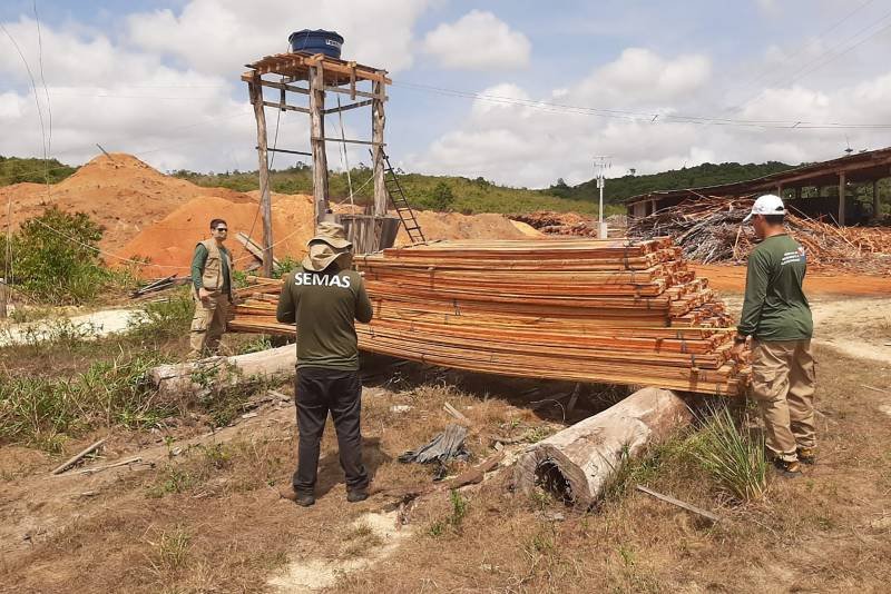
{"label": "large stack of long orange-brown sawn planks bound with straps", "polygon": [[[670,239],[442,241],[356,256],[374,306],[360,348],[519,377],[736,394],[732,320]],[[242,289],[229,328],[277,324],[282,281]]]}

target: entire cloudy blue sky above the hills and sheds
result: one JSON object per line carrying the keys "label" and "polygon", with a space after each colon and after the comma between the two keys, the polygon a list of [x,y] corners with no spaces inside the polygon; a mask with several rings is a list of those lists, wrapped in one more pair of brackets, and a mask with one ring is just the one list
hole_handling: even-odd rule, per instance
{"label": "entire cloudy blue sky above the hills and sheds", "polygon": [[[88,160],[99,142],[163,170],[255,168],[242,65],[284,50],[301,28],[333,28],[346,38],[344,57],[392,72],[388,150],[410,170],[541,187],[591,177],[595,155],[610,155],[610,174],[624,175],[891,145],[889,128],[878,126],[891,123],[888,0],[37,7],[46,81],[37,98],[0,32],[3,155],[41,155],[51,109],[49,148],[68,162]],[[7,0],[0,22],[38,73],[33,1]],[[347,136],[368,136],[370,116],[360,111],[346,118]],[[305,117],[278,123],[278,146],[305,149]],[[339,121],[329,126],[336,131]],[[329,150],[330,165],[342,167],[337,147]],[[349,159],[368,160],[362,150]]]}

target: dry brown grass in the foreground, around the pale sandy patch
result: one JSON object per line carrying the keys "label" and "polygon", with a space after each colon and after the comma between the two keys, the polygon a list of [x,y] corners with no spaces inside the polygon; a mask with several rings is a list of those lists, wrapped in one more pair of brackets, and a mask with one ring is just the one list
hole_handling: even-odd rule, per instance
{"label": "dry brown grass in the foreground, around the pale sandy patch", "polygon": [[[820,462],[793,482],[772,477],[758,503],[727,502],[681,436],[629,466],[624,483],[590,513],[544,495],[513,494],[509,473],[456,496],[424,498],[411,512],[412,535],[391,556],[343,576],[333,590],[881,592],[891,583],[891,528],[877,522],[891,508],[891,424],[877,412],[888,397],[859,386],[885,385],[888,369],[823,349],[817,356]],[[488,397],[467,385],[457,389],[448,382],[431,386],[407,377],[399,390],[378,389],[366,397],[365,456],[375,483],[430,481],[429,468],[402,465],[395,457],[451,420],[442,410],[447,400],[480,428],[468,440],[478,458],[491,452],[488,433],[517,437],[538,427],[552,430],[552,423],[508,398],[517,386],[487,385]],[[400,413],[394,405],[412,408]],[[2,587],[260,592],[288,560],[371,558],[382,543],[359,518],[388,501],[344,502],[331,426],[323,439],[317,504],[303,509],[278,499],[271,484],[290,481],[295,430],[293,425],[277,430],[281,437],[246,436],[193,448],[125,478],[98,501],[82,502],[82,519],[35,537],[32,546],[4,552]],[[189,481],[167,488],[173,476]],[[26,477],[7,478],[4,493],[14,496]],[[634,483],[714,509],[723,521],[708,525],[628,488]],[[437,525],[442,529],[434,531]]]}

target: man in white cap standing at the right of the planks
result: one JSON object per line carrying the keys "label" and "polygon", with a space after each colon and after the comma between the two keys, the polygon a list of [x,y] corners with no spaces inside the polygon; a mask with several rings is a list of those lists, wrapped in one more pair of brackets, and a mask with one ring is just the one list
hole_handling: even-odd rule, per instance
{"label": "man in white cap standing at the right of the planks", "polygon": [[764,417],[766,446],[777,472],[792,478],[814,463],[813,318],[802,284],[804,248],[785,230],[783,200],[762,196],[743,222],[761,242],[748,256],[743,314],[734,350],[752,340],[752,393]]}

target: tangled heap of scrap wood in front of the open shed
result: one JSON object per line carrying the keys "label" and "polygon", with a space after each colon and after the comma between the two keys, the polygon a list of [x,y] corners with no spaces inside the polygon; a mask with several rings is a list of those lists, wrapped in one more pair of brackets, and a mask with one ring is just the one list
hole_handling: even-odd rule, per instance
{"label": "tangled heap of scrap wood in front of the open shed", "polygon": [[[756,238],[743,219],[751,198],[708,197],[686,200],[633,219],[628,236],[640,239],[669,236],[684,257],[705,264],[743,261]],[[790,214],[786,226],[807,251],[809,265],[864,274],[891,273],[891,230],[878,227],[838,227]]]}

